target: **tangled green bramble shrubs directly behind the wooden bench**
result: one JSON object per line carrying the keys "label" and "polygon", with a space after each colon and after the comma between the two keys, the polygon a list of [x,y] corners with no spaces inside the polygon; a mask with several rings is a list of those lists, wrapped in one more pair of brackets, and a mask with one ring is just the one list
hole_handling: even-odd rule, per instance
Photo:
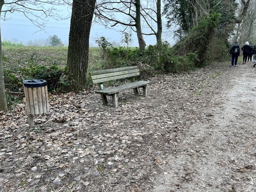
{"label": "tangled green bramble shrubs directly behind the wooden bench", "polygon": [[[184,72],[194,68],[197,54],[188,52],[186,56],[175,54],[173,47],[167,42],[159,45],[149,45],[147,49],[140,50],[131,47],[112,47],[104,39],[102,50],[104,55],[102,65],[98,69],[129,67],[137,65],[141,76],[148,77],[157,72]],[[104,46],[103,46],[104,45]],[[92,69],[92,68],[91,68]],[[97,68],[94,68],[97,70]]]}

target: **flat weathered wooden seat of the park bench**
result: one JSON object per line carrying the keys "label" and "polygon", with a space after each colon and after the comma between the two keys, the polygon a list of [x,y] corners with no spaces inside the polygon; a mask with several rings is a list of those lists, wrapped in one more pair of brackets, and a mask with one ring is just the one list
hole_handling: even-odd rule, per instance
{"label": "flat weathered wooden seat of the park bench", "polygon": [[123,84],[123,85],[120,85],[120,86],[106,88],[104,90],[98,90],[95,93],[100,93],[100,94],[103,94],[103,95],[113,95],[115,93],[122,92],[124,90],[129,90],[129,89],[132,89],[132,88],[146,86],[149,83],[150,83],[150,81],[136,81],[134,83]]}

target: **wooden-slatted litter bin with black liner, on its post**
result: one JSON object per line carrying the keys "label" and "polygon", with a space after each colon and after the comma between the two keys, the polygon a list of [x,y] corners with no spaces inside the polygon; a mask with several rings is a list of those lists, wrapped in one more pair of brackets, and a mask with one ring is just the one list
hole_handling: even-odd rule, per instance
{"label": "wooden-slatted litter bin with black liner, on its post", "polygon": [[29,127],[34,127],[33,115],[39,115],[49,111],[47,81],[32,79],[24,80],[23,84]]}

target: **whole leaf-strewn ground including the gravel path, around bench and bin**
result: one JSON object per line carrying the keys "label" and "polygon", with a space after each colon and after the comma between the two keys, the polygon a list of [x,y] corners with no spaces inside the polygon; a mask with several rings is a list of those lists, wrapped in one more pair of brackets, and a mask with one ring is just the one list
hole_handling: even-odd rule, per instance
{"label": "whole leaf-strewn ground including the gravel path, around bench and bin", "polygon": [[29,128],[25,104],[0,111],[0,191],[253,191],[252,63],[152,77],[148,97],[49,95]]}

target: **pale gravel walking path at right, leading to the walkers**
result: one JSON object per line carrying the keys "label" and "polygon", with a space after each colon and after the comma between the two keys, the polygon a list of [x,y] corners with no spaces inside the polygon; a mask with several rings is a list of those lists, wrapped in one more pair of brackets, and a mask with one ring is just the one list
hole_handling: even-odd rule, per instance
{"label": "pale gravel walking path at right, leading to the walkers", "polygon": [[152,191],[256,191],[256,69],[230,68],[211,122],[182,136]]}

